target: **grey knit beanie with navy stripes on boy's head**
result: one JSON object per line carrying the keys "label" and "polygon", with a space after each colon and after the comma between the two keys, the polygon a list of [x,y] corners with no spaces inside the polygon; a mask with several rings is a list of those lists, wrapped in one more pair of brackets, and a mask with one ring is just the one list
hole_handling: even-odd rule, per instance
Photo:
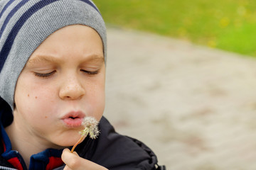
{"label": "grey knit beanie with navy stripes on boy's head", "polygon": [[82,24],[102,38],[106,57],[106,28],[90,0],[0,0],[0,96],[14,110],[18,76],[34,50],[50,34]]}

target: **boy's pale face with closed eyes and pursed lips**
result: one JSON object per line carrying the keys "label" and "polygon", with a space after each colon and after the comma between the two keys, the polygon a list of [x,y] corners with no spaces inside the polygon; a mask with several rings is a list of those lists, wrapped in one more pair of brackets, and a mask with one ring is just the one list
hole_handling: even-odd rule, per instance
{"label": "boy's pale face with closed eyes and pursed lips", "polygon": [[87,26],[67,26],[31,55],[16,84],[14,125],[47,147],[74,145],[85,116],[105,108],[105,60],[100,36]]}

